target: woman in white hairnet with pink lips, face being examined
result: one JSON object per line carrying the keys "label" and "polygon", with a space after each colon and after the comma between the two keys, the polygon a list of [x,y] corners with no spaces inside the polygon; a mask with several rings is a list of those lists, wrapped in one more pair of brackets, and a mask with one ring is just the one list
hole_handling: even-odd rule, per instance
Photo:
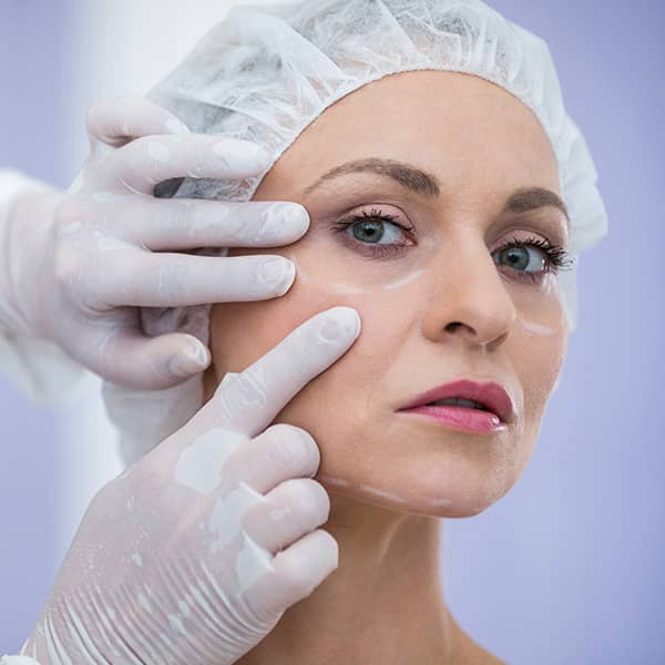
{"label": "woman in white hairnet with pink lips, face being examined", "polygon": [[[478,1],[236,9],[152,96],[275,155],[176,196],[286,200],[311,218],[278,252],[297,267],[287,295],[212,308],[205,399],[313,314],[362,320],[272,420],[315,438],[326,505],[274,489],[256,509],[275,524],[329,509],[339,566],[236,662],[500,662],[446,605],[440,519],[478,514],[523,472],[574,328],[573,262],[606,229],[546,45]],[[142,444],[180,424],[149,419]],[[183,635],[201,621],[188,612],[173,615]]]}

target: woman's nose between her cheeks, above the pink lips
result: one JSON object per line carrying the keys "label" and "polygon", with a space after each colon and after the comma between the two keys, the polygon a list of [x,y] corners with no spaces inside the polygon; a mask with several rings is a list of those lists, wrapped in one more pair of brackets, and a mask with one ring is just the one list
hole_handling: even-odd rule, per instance
{"label": "woman's nose between her cheeks, above the pink lips", "polygon": [[507,279],[488,248],[452,247],[432,268],[422,334],[431,340],[456,339],[478,346],[502,344],[516,317]]}

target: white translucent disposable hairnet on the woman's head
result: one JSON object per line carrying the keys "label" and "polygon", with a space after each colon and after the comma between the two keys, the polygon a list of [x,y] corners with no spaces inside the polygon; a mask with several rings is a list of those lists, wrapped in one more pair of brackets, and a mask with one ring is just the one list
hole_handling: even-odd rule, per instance
{"label": "white translucent disposable hairnet on the woman's head", "polygon": [[[607,232],[597,173],[565,112],[548,44],[484,2],[307,0],[235,7],[150,96],[192,131],[254,141],[275,162],[344,95],[389,74],[428,69],[492,81],[540,120],[571,219],[569,253],[575,260],[560,273],[560,285],[573,330],[579,253]],[[185,178],[175,195],[248,201],[265,173],[243,181]]]}

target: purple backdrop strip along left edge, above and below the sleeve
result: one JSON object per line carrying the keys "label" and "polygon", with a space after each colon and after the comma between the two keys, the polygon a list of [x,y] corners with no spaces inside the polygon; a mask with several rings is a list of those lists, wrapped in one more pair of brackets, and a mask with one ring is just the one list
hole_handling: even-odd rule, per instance
{"label": "purple backdrop strip along left edge, above and below the sleeve", "polygon": [[[68,18],[61,0],[0,0],[0,167],[65,186]],[[0,655],[34,624],[63,552],[64,416],[0,377]]]}

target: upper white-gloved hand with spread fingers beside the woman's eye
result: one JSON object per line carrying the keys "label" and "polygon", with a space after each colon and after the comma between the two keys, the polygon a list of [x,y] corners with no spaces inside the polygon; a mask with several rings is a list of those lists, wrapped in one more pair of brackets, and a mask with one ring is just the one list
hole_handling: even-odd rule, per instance
{"label": "upper white-gloved hand with spread fingers beside the woman's eye", "polygon": [[114,385],[175,386],[208,365],[205,342],[188,330],[145,336],[140,306],[266,299],[295,277],[277,255],[176,252],[287,245],[307,229],[307,211],[155,198],[161,181],[256,175],[269,155],[245,141],[190,134],[147,100],[103,102],[88,126],[90,155],[69,192],[23,190],[0,218],[0,320],[16,335],[55,341]]}

